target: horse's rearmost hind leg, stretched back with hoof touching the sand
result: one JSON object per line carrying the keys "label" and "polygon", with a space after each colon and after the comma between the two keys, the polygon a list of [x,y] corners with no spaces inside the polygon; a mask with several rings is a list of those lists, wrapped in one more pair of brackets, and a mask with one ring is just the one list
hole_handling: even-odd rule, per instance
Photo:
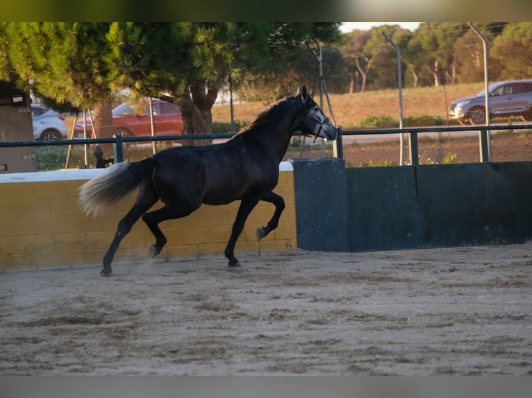
{"label": "horse's rearmost hind leg, stretched back with hoof touching the sand", "polygon": [[102,277],[110,277],[113,275],[111,262],[113,261],[113,257],[115,257],[120,242],[131,231],[131,227],[133,227],[140,216],[148,211],[151,206],[155,205],[157,200],[159,200],[159,197],[153,188],[143,189],[141,187],[135,200],[135,205],[131,207],[131,210],[128,211],[122,220],[119,220],[115,238],[111,242],[106,255],[103,256],[103,270],[100,272]]}

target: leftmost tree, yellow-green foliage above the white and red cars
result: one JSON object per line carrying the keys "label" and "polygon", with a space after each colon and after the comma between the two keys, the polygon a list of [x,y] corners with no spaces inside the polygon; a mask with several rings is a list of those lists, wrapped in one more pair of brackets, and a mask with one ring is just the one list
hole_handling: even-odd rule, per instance
{"label": "leftmost tree, yellow-green foliage above the white and red cars", "polygon": [[[95,108],[94,130],[113,130],[108,85],[108,24],[34,22],[6,24],[10,65],[19,86],[62,112]],[[110,150],[110,147],[108,148]]]}

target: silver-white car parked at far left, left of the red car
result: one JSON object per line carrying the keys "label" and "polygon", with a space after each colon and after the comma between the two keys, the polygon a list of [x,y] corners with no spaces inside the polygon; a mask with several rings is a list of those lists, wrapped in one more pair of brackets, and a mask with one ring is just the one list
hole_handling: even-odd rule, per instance
{"label": "silver-white car parked at far left, left of the red car", "polygon": [[68,137],[65,116],[51,110],[46,105],[31,104],[31,120],[33,121],[33,139],[55,140]]}

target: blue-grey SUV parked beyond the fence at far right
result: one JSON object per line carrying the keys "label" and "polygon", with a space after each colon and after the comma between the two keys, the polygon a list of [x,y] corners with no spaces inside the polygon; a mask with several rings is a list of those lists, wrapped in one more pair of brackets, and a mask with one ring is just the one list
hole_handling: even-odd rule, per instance
{"label": "blue-grey SUV parked beyond the fence at far right", "polygon": [[[532,121],[532,80],[507,80],[488,87],[490,117],[521,116]],[[484,90],[476,96],[460,98],[451,103],[451,119],[462,124],[485,123]]]}

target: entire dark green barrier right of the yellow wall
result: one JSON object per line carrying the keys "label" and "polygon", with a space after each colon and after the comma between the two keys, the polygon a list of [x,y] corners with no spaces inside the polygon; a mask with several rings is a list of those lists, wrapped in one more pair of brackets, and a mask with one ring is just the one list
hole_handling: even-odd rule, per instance
{"label": "entire dark green barrier right of the yellow wall", "polygon": [[306,250],[522,243],[532,237],[532,162],[344,168],[294,162]]}

